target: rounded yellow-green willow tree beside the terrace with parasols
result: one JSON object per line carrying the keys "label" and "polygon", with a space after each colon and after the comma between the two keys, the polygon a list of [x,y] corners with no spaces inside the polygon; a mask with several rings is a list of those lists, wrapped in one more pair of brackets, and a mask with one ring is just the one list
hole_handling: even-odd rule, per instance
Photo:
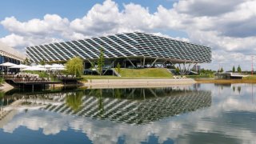
{"label": "rounded yellow-green willow tree beside the terrace with parasols", "polygon": [[66,62],[66,72],[68,74],[76,75],[77,77],[82,76],[82,59],[80,57],[71,58]]}

